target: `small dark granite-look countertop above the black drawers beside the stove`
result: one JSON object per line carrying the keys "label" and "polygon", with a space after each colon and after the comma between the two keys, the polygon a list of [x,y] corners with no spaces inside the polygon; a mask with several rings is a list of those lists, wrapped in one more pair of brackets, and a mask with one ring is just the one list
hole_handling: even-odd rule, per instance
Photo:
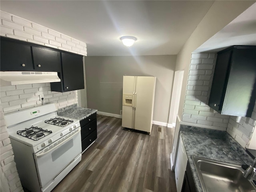
{"label": "small dark granite-look countertop above the black drawers beside the stove", "polygon": [[88,109],[83,107],[78,107],[77,104],[61,108],[57,111],[58,116],[63,116],[67,118],[77,119],[79,121],[85,119],[86,117],[96,113],[96,109]]}

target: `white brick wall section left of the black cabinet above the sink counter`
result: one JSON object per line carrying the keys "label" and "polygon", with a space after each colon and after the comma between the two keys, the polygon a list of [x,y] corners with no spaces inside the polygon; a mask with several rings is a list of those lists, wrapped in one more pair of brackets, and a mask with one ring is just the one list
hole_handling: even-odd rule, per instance
{"label": "white brick wall section left of the black cabinet above the sink counter", "polygon": [[215,53],[192,53],[182,121],[193,126],[226,130],[229,116],[207,105],[215,62]]}

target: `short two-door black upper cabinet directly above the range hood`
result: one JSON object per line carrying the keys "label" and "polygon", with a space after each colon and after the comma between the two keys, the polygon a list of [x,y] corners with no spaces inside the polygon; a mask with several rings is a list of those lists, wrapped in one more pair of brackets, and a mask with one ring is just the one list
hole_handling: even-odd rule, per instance
{"label": "short two-door black upper cabinet directly above the range hood", "polygon": [[1,71],[61,71],[60,51],[1,37]]}

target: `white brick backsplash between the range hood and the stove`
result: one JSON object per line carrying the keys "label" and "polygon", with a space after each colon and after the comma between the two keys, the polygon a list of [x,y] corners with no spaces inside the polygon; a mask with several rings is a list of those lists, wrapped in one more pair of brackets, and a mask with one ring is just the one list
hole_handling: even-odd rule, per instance
{"label": "white brick backsplash between the range hood and the stove", "polygon": [[4,113],[40,105],[39,95],[44,95],[44,104],[53,102],[58,109],[78,103],[77,90],[54,92],[50,90],[50,83],[1,86],[0,94]]}

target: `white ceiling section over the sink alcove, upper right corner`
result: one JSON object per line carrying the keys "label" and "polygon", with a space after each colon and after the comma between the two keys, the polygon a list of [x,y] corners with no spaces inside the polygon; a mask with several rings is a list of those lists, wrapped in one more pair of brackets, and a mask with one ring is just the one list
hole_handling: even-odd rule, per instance
{"label": "white ceiling section over the sink alcove, upper right corner", "polygon": [[232,45],[256,45],[256,3],[194,52],[218,52]]}

